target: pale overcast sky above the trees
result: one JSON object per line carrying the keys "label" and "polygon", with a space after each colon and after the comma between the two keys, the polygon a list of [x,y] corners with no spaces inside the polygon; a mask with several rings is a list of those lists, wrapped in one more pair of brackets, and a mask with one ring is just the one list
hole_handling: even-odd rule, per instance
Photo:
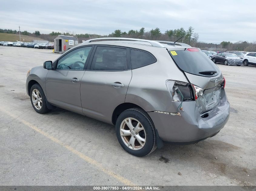
{"label": "pale overcast sky above the trees", "polygon": [[1,0],[0,28],[33,33],[111,34],[189,26],[199,41],[256,41],[256,1],[246,0]]}

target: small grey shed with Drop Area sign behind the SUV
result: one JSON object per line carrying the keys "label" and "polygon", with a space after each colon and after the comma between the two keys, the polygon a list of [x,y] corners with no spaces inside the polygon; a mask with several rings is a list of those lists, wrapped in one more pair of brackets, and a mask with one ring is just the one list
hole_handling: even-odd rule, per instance
{"label": "small grey shed with Drop Area sign behind the SUV", "polygon": [[[64,45],[66,46],[65,50]],[[78,45],[78,40],[75,37],[58,35],[58,37],[54,39],[54,52],[64,53],[76,45]]]}

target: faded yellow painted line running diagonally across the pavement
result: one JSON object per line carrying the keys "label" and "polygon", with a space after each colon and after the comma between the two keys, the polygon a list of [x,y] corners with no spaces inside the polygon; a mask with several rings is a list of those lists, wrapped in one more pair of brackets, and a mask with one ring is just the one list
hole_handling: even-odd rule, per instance
{"label": "faded yellow painted line running diagonally across the pavement", "polygon": [[72,153],[76,154],[77,156],[79,156],[81,159],[83,159],[84,161],[94,165],[95,167],[97,167],[99,170],[103,171],[104,173],[108,174],[109,176],[117,179],[118,181],[120,181],[121,183],[127,185],[127,186],[134,186],[135,184],[133,184],[130,180],[112,172],[111,170],[104,168],[100,163],[98,163],[97,161],[95,161],[94,159],[86,156],[85,154],[75,150],[74,148],[72,148],[69,145],[66,145],[65,143],[63,143],[62,141],[60,141],[59,139],[49,135],[47,132],[44,132],[43,130],[37,128],[36,126],[32,125],[31,123],[23,120],[23,119],[19,119],[19,117],[15,116],[13,113],[3,110],[2,108],[0,108],[0,110],[4,113],[6,113],[8,116],[11,116],[12,118],[20,121],[21,123],[23,123],[24,125],[30,127],[31,129],[39,132],[40,134],[44,135],[45,137],[51,139],[53,142],[58,143],[59,145],[65,147],[66,149],[68,149],[69,151],[71,151]]}

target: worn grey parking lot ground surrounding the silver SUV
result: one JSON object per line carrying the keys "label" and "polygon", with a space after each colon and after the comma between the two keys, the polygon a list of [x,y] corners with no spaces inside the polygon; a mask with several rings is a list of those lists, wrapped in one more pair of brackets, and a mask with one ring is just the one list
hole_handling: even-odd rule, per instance
{"label": "worn grey parking lot ground surrounding the silver SUV", "polygon": [[0,46],[0,185],[256,185],[255,66],[218,64],[231,104],[218,135],[138,158],[112,125],[60,108],[34,111],[27,71],[58,56]]}

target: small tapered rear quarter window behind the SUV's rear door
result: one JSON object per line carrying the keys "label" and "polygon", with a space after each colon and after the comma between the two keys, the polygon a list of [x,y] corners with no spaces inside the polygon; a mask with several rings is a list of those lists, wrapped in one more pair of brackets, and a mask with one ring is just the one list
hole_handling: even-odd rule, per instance
{"label": "small tapered rear quarter window behind the SUV's rear door", "polygon": [[156,62],[156,58],[150,53],[131,49],[131,69],[140,68]]}

